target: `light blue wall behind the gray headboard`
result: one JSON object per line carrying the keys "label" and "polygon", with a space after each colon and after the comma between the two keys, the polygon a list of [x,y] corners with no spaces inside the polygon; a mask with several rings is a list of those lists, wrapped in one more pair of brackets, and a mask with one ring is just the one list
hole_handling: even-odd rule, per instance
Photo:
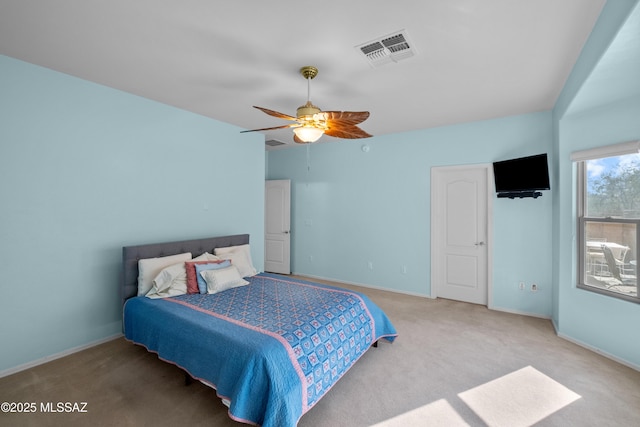
{"label": "light blue wall behind the gray headboard", "polygon": [[124,245],[250,233],[262,269],[239,130],[0,56],[0,371],[121,332]]}

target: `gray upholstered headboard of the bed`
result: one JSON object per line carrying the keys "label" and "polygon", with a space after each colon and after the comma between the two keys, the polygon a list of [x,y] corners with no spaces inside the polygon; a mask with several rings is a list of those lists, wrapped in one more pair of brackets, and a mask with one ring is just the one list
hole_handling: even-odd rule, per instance
{"label": "gray upholstered headboard of the bed", "polygon": [[197,257],[205,252],[213,253],[215,248],[244,245],[249,243],[248,234],[208,237],[205,239],[182,240],[179,242],[152,243],[149,245],[125,246],[122,248],[122,283],[120,296],[122,303],[138,295],[138,260],[191,252]]}

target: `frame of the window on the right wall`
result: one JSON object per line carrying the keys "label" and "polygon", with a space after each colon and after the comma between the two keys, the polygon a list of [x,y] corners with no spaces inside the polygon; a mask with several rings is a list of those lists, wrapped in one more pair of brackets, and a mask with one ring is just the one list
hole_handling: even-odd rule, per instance
{"label": "frame of the window on the right wall", "polygon": [[620,292],[610,291],[604,288],[587,284],[586,280],[586,224],[589,222],[613,223],[613,224],[635,224],[636,226],[636,254],[635,259],[640,259],[640,218],[617,218],[617,217],[588,217],[586,213],[586,182],[588,160],[596,160],[607,157],[622,156],[640,152],[640,141],[625,142],[611,146],[598,147],[591,150],[579,151],[571,154],[571,160],[577,164],[577,191],[576,197],[576,225],[577,225],[577,288],[598,294],[610,296],[625,301],[640,304],[640,282],[637,278],[638,267],[636,266],[636,296],[626,295]]}

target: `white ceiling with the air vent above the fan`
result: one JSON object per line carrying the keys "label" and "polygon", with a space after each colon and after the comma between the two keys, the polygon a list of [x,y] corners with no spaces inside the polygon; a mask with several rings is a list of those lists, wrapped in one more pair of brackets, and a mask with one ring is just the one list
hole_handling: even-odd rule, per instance
{"label": "white ceiling with the air vent above the fan", "polygon": [[[253,105],[295,115],[314,65],[313,103],[383,135],[553,108],[604,3],[0,0],[0,54],[243,129],[286,123]],[[398,30],[413,57],[356,49]]]}

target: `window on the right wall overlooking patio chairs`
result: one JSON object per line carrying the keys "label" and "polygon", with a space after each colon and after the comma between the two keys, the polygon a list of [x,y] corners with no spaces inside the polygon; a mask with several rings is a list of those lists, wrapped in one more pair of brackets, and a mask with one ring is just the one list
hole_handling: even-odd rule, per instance
{"label": "window on the right wall overlooking patio chairs", "polygon": [[638,142],[572,159],[578,166],[578,287],[640,303]]}

